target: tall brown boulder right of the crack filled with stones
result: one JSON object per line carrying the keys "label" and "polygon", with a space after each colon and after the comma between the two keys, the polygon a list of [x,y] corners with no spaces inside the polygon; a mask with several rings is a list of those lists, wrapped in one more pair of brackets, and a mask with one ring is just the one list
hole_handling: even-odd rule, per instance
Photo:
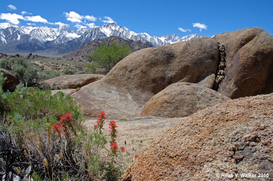
{"label": "tall brown boulder right of the crack filled with stones", "polygon": [[268,32],[247,28],[217,34],[214,39],[226,51],[219,93],[233,99],[273,92],[273,39]]}

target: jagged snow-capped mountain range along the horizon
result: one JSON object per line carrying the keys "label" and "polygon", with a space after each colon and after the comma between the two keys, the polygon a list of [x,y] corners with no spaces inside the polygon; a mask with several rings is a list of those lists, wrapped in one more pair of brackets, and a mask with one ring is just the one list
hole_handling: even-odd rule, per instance
{"label": "jagged snow-capped mountain range along the horizon", "polygon": [[116,23],[97,26],[91,29],[71,30],[65,26],[50,28],[49,26],[22,26],[0,23],[0,52],[35,52],[47,54],[64,54],[81,48],[84,44],[110,36],[119,36],[125,40],[149,42],[153,47],[188,41],[204,35],[187,35],[180,38],[176,34],[160,37],[147,33],[128,31]]}

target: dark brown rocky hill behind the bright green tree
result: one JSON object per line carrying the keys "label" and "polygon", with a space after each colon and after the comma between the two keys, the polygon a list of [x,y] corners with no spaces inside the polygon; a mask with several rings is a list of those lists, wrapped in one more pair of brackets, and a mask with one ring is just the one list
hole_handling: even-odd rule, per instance
{"label": "dark brown rocky hill behind the bright green tree", "polygon": [[90,41],[86,43],[78,50],[63,56],[64,60],[70,61],[88,61],[89,55],[93,53],[94,48],[98,48],[101,44],[108,44],[110,45],[111,41],[115,41],[118,44],[128,44],[132,48],[132,52],[138,51],[143,48],[152,47],[150,43],[142,43],[141,41],[133,41],[133,40],[124,40],[118,36],[110,36],[105,39],[98,39],[94,41]]}

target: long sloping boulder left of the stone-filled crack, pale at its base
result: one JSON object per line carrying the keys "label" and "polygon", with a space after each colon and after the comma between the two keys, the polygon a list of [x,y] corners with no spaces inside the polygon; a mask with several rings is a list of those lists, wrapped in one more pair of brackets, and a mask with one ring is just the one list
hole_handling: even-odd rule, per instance
{"label": "long sloping boulder left of the stone-filled crack, pale at its base", "polygon": [[217,41],[212,38],[142,49],[72,96],[86,116],[96,117],[104,111],[112,119],[136,117],[146,102],[168,85],[196,83],[215,74],[218,56]]}

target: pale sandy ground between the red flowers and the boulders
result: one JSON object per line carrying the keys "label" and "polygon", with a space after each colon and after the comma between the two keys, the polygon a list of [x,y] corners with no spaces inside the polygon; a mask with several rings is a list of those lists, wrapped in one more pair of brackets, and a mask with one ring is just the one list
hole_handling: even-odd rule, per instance
{"label": "pale sandy ground between the red flowers and the boulders", "polygon": [[[107,115],[106,115],[107,116]],[[155,137],[160,136],[165,131],[173,127],[184,118],[160,118],[160,117],[137,117],[130,120],[114,120],[118,126],[117,145],[123,146],[130,159],[148,146]],[[110,139],[108,124],[112,120],[105,120],[103,133]],[[96,119],[85,119],[85,125],[93,129]],[[110,145],[109,145],[110,149]]]}

